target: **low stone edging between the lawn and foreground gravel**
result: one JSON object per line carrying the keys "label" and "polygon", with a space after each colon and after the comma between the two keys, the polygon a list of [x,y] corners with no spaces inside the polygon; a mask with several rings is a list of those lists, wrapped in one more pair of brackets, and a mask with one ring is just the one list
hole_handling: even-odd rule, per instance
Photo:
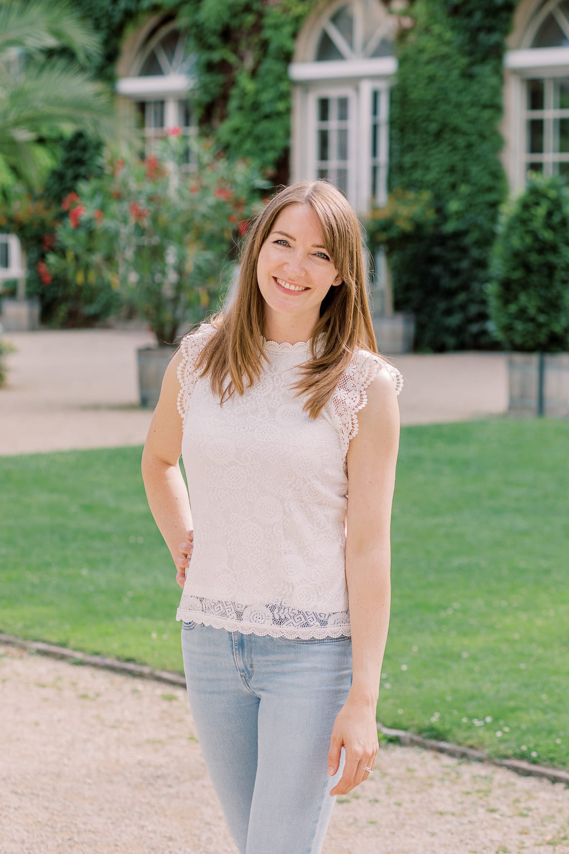
{"label": "low stone edging between the lawn and foreground gravel", "polygon": [[[13,635],[0,633],[0,643],[7,646],[20,646],[29,652],[37,652],[39,655],[47,655],[49,658],[60,658],[71,664],[88,664],[90,667],[99,667],[102,670],[113,670],[127,676],[136,676],[139,679],[152,679],[154,681],[166,682],[168,685],[186,687],[186,680],[177,673],[168,670],[153,670],[145,664],[131,664],[128,661],[119,661],[116,658],[105,658],[100,655],[87,655],[85,652],[76,652],[65,646],[43,643],[39,640],[22,640]],[[448,756],[458,759],[468,759],[474,762],[485,762],[515,771],[516,774],[528,777],[542,777],[553,783],[565,783],[569,786],[569,771],[557,768],[548,768],[545,765],[533,765],[523,762],[521,759],[493,759],[484,752],[474,750],[472,747],[462,747],[450,744],[448,741],[436,741],[424,739],[421,735],[409,733],[404,729],[390,729],[381,723],[377,725],[378,732],[385,735],[387,739],[397,739],[405,747],[422,747],[438,753],[446,753]]]}

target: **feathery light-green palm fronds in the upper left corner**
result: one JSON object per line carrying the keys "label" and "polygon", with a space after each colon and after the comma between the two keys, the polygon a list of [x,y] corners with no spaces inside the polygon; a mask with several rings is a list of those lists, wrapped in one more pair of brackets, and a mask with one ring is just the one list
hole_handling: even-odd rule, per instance
{"label": "feathery light-green palm fronds in the upper left corner", "polygon": [[84,70],[100,52],[67,0],[0,0],[0,190],[38,189],[62,136],[116,137],[111,92]]}

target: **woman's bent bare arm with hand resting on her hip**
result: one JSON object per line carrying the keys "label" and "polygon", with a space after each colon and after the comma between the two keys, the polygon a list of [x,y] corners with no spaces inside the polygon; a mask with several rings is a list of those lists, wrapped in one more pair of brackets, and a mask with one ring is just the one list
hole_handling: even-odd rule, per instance
{"label": "woman's bent bare arm with hand resting on her hip", "polygon": [[[148,506],[174,560],[179,559],[179,546],[188,539],[187,534],[194,527],[188,490],[180,470],[182,418],[177,411],[180,390],[177,366],[181,360],[182,354],[178,351],[166,368],[160,400],[142,451],[142,480]],[[183,587],[179,577],[177,582]]]}

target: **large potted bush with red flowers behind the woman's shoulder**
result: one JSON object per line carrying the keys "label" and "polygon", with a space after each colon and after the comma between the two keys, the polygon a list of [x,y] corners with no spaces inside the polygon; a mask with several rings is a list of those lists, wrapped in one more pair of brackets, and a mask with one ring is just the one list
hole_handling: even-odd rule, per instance
{"label": "large potted bush with red flowers behind the woman's shoulder", "polygon": [[105,280],[148,320],[159,346],[174,342],[181,324],[218,307],[235,238],[263,186],[245,161],[230,163],[174,129],[145,159],[109,158],[101,177],[67,196],[48,267],[66,264],[77,284]]}

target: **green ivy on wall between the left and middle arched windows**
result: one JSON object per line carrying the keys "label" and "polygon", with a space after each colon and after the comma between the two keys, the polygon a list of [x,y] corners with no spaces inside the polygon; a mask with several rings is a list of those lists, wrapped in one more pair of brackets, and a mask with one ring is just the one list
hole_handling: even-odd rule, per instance
{"label": "green ivy on wall between the left and middle arched windows", "polygon": [[200,125],[230,157],[247,157],[287,181],[294,43],[317,0],[76,0],[103,36],[94,69],[114,82],[127,29],[150,14],[175,13],[195,56],[191,101]]}

